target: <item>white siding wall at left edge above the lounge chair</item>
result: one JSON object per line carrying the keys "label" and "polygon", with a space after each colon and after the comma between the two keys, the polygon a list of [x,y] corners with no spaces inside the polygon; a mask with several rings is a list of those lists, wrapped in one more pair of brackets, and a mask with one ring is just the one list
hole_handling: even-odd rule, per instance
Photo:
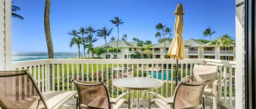
{"label": "white siding wall at left edge above the lounge chair", "polygon": [[0,70],[11,69],[11,0],[0,0]]}

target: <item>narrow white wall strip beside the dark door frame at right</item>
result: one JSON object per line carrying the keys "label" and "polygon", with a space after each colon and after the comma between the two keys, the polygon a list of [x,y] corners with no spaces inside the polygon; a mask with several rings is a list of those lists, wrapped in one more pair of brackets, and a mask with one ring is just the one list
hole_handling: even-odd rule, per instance
{"label": "narrow white wall strip beside the dark door frame at right", "polygon": [[[236,0],[236,4],[241,3],[241,0]],[[244,22],[244,8],[245,5],[236,7],[236,74],[235,74],[235,107],[236,108],[245,108],[245,98],[244,98],[244,74],[245,74],[245,34],[243,30]]]}

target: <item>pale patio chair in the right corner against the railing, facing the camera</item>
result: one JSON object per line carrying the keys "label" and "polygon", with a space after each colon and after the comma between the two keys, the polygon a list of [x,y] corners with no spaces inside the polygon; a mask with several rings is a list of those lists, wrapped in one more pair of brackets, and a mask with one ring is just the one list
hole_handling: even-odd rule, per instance
{"label": "pale patio chair in the right corner against the railing, facing the camera", "polygon": [[194,65],[193,75],[186,76],[182,79],[183,82],[188,81],[202,81],[205,79],[211,79],[212,81],[206,85],[204,90],[204,95],[212,96],[213,109],[217,109],[217,99],[218,97],[218,66],[208,66],[208,65]]}

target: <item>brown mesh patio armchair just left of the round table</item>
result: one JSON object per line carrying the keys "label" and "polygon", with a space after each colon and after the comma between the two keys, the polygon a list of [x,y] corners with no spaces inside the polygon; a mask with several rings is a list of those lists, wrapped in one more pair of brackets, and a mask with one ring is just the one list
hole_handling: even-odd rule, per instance
{"label": "brown mesh patio armchair just left of the round table", "polygon": [[[103,82],[85,82],[79,80],[71,80],[74,82],[78,90],[78,108],[103,108],[103,109],[117,109],[122,104],[127,104],[130,108],[130,92],[125,92],[117,98],[110,98],[109,92]],[[127,95],[127,99],[123,97]]]}

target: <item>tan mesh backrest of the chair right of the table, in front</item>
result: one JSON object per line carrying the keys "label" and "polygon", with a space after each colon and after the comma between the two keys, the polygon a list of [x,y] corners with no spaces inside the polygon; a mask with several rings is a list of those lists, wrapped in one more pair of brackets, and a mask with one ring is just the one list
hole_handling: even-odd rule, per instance
{"label": "tan mesh backrest of the chair right of the table, in front", "polygon": [[202,96],[205,85],[211,80],[194,81],[183,83],[181,82],[175,89],[174,104],[172,107],[188,108],[203,104]]}

